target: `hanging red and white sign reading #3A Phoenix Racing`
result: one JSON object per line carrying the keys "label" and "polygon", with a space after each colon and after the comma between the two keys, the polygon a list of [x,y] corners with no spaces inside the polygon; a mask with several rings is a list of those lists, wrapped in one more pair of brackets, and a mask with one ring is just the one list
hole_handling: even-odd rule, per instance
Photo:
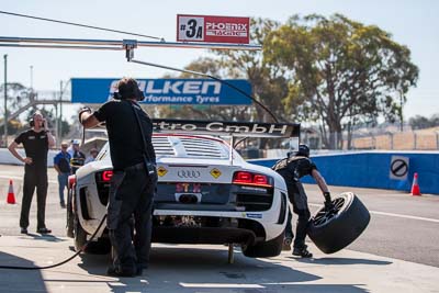
{"label": "hanging red and white sign reading #3A Phoenix Racing", "polygon": [[177,15],[178,42],[249,44],[249,18]]}

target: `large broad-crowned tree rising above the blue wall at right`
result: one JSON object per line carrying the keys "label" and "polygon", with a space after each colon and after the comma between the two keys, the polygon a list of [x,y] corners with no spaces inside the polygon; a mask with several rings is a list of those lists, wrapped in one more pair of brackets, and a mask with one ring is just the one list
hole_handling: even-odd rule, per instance
{"label": "large broad-crowned tree rising above the blue wall at right", "polygon": [[341,147],[341,132],[357,123],[380,115],[396,120],[418,78],[406,46],[378,26],[341,14],[290,18],[267,36],[263,54],[267,64],[292,77],[288,109],[319,122],[329,148]]}

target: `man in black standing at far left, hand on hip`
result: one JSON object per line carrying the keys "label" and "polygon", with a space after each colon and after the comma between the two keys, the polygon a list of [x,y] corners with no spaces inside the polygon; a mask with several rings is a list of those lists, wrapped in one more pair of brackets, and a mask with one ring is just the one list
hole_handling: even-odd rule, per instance
{"label": "man in black standing at far left, hand on hip", "polygon": [[[47,131],[47,123],[40,112],[35,112],[31,120],[31,129],[22,132],[12,142],[8,149],[20,161],[24,162],[23,199],[21,204],[20,227],[22,234],[27,234],[29,212],[36,188],[36,232],[52,233],[46,227],[46,198],[47,198],[47,153],[55,145],[55,138]],[[23,144],[26,157],[22,157],[16,147]]]}

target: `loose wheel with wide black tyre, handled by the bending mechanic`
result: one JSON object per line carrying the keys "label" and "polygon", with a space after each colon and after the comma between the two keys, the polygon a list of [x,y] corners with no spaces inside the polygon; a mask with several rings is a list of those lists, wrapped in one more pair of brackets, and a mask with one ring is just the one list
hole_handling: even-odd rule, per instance
{"label": "loose wheel with wide black tyre, handled by the bending mechanic", "polygon": [[370,222],[368,209],[352,192],[333,199],[334,209],[322,207],[311,218],[308,236],[325,253],[334,253],[357,239]]}

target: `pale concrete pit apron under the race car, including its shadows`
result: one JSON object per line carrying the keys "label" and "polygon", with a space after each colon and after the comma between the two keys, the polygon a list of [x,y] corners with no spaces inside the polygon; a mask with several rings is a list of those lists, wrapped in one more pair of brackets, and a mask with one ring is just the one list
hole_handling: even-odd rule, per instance
{"label": "pale concrete pit apron under the race car, including its shadows", "polygon": [[[0,263],[48,266],[71,256],[71,240],[56,236],[2,236]],[[80,255],[42,271],[0,270],[1,292],[439,292],[439,268],[348,249],[296,259],[283,251],[251,259],[226,246],[153,245],[150,267],[136,278],[105,275],[109,256]]]}

